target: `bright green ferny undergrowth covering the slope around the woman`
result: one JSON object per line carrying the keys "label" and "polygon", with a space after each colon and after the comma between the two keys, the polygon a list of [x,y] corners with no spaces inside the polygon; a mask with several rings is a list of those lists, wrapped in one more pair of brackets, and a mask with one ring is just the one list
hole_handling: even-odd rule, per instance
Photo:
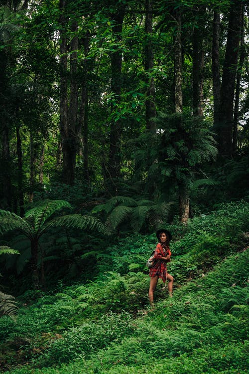
{"label": "bright green ferny undergrowth covering the slope around the woman", "polygon": [[169,272],[176,287],[168,298],[158,283],[153,312],[144,268],[155,244],[151,235],[127,237],[100,253],[94,281],[41,294],[31,304],[28,293],[23,295],[16,319],[0,318],[1,369],[8,374],[246,374],[248,205],[230,204],[220,216],[210,216],[188,228],[172,225],[177,240]]}

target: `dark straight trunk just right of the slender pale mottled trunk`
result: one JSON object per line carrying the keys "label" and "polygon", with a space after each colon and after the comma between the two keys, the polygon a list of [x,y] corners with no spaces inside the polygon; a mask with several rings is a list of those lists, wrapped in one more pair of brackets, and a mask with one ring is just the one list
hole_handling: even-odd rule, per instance
{"label": "dark straight trunk just right of the slender pale mottled trunk", "polygon": [[203,116],[203,38],[206,7],[197,8],[197,27],[193,31],[193,115]]}

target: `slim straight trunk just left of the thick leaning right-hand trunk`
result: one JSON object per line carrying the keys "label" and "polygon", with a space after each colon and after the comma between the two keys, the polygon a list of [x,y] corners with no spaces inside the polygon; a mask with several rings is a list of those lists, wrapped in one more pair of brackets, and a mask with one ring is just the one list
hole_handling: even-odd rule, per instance
{"label": "slim straight trunk just left of the thick leaning right-hand trunk", "polygon": [[220,79],[220,14],[215,10],[213,19],[213,40],[212,40],[212,76],[214,96],[214,128],[219,125],[219,111],[221,99]]}

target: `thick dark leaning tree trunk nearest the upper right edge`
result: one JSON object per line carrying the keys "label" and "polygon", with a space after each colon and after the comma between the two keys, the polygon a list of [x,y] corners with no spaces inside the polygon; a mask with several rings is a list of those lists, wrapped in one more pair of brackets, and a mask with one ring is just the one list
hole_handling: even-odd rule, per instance
{"label": "thick dark leaning tree trunk nearest the upper right edge", "polygon": [[240,33],[242,22],[242,1],[231,5],[228,25],[227,47],[223,66],[220,103],[220,123],[218,127],[218,148],[222,156],[232,156],[234,92]]}

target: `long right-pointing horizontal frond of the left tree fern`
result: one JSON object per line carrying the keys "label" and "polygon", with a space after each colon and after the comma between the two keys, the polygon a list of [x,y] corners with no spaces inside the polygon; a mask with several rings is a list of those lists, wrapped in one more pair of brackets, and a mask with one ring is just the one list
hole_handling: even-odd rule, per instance
{"label": "long right-pointing horizontal frond of the left tree fern", "polygon": [[47,222],[43,226],[43,232],[49,227],[68,227],[79,229],[90,229],[104,232],[104,225],[91,215],[67,214]]}

